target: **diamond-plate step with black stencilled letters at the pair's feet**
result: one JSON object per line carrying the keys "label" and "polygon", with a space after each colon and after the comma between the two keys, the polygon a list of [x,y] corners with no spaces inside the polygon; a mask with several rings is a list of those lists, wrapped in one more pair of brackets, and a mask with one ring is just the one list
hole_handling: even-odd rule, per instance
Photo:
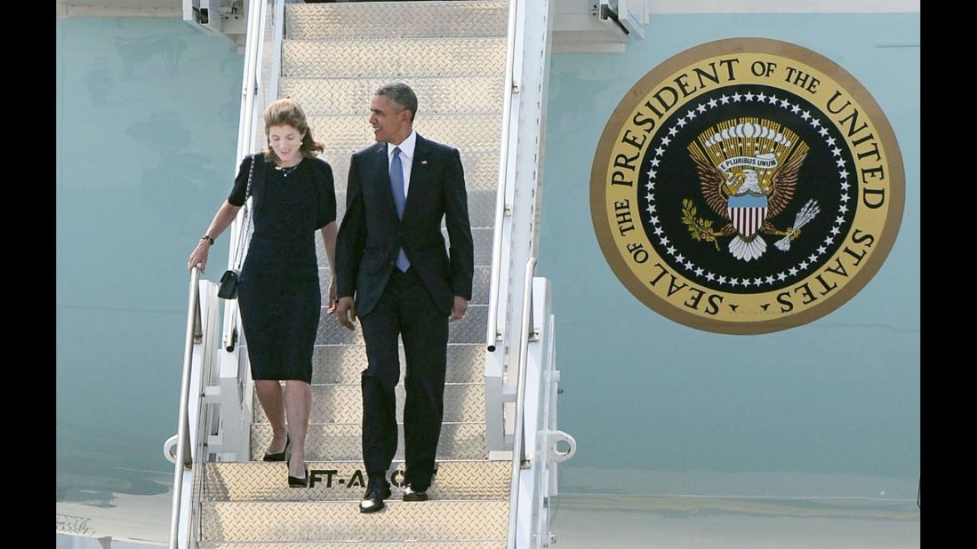
{"label": "diamond-plate step with black stencilled letters at the pair's feet", "polygon": [[[390,475],[393,499],[403,495],[404,464],[395,462]],[[211,501],[359,501],[366,472],[361,461],[307,461],[310,487],[285,484],[284,463],[208,463],[204,499]],[[508,501],[512,462],[439,461],[428,489],[432,499],[496,499]]]}

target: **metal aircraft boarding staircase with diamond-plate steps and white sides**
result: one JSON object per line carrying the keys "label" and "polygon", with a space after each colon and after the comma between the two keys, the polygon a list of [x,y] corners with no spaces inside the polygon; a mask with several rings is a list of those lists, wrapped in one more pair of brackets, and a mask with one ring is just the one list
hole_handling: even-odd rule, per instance
{"label": "metal aircraft boarding staircase with diamond-plate steps and white sides", "polygon": [[[258,7],[252,6],[251,13],[257,15]],[[516,140],[508,148],[506,136],[518,135],[520,127],[518,120],[506,115],[507,110],[518,112],[518,105],[513,105],[518,98],[507,96],[518,94],[519,88],[506,75],[512,70],[514,43],[507,32],[516,14],[505,1],[452,0],[335,4],[267,0],[260,13],[256,19],[261,21],[249,22],[249,36],[260,34],[266,44],[280,43],[280,47],[272,48],[271,54],[268,49],[252,54],[257,59],[250,60],[255,68],[248,74],[253,74],[257,90],[248,84],[244,88],[246,97],[256,97],[248,100],[253,102],[250,108],[242,106],[242,126],[247,125],[246,119],[252,134],[245,136],[242,128],[242,152],[264,144],[262,105],[284,96],[299,101],[306,108],[316,139],[326,145],[322,157],[333,167],[342,219],[350,154],[373,141],[367,123],[373,92],[389,82],[408,84],[418,97],[417,132],[461,152],[475,241],[473,298],[466,317],[449,324],[445,419],[438,469],[429,489],[432,499],[423,503],[400,501],[404,465],[402,369],[402,385],[397,388],[398,454],[389,471],[394,493],[387,509],[378,515],[362,515],[358,510],[365,488],[360,372],[366,366],[359,327],[355,332],[346,330],[322,308],[306,440],[311,486],[289,488],[285,464],[259,461],[271,443],[272,430],[247,380],[247,342],[235,345],[240,337],[235,304],[228,306],[225,349],[215,359],[221,361],[221,374],[210,373],[218,369],[216,365],[203,367],[200,375],[211,379],[203,383],[209,387],[201,391],[205,405],[191,405],[209,414],[209,419],[196,420],[208,431],[205,438],[195,437],[196,443],[192,443],[193,437],[188,441],[194,445],[196,457],[182,478],[191,494],[179,498],[183,502],[179,511],[181,533],[174,536],[179,538],[178,543],[171,542],[171,547],[548,546],[548,517],[541,507],[556,493],[555,464],[573,454],[573,439],[556,431],[559,372],[553,369],[552,320],[545,280],[536,279],[533,295],[531,271],[526,271],[531,266],[522,266],[531,246],[525,252],[511,251],[511,242],[502,237],[527,231],[510,227],[514,190],[499,189],[503,174],[511,177],[515,170],[500,158],[503,148],[509,157],[515,157]],[[250,76],[246,76],[245,82],[249,81]],[[542,90],[539,86],[537,95]],[[539,130],[538,105],[535,111],[535,129]],[[533,135],[533,140],[538,137]],[[530,160],[535,164],[536,145],[530,147]],[[529,185],[537,185],[537,180],[533,178]],[[523,211],[530,225],[534,223],[535,195],[531,192],[533,201],[527,201]],[[499,207],[500,202],[505,202],[505,207]],[[506,218],[504,223],[496,219],[499,212]],[[236,237],[234,234],[232,241]],[[325,295],[330,273],[319,238],[317,245],[319,279]],[[518,273],[499,261],[500,249],[506,250],[510,263],[520,264]],[[494,291],[493,280],[497,285]],[[205,293],[213,292],[211,282],[200,284]],[[501,302],[497,312],[490,312],[490,296]],[[531,308],[531,298],[538,302],[535,308]],[[209,322],[216,325],[212,319]],[[491,322],[500,327],[492,329]],[[522,328],[501,327],[513,322]],[[521,332],[527,337],[521,338]],[[529,337],[530,332],[533,337]],[[488,345],[487,333],[493,334]],[[528,352],[530,345],[535,351]],[[401,363],[403,368],[403,347]],[[197,367],[194,364],[191,367]],[[497,371],[502,373],[495,375]],[[525,407],[526,414],[532,410],[533,415],[524,419],[516,417],[517,407],[524,409],[515,405],[517,393],[522,394],[517,391],[516,374],[526,376],[527,371],[531,372],[529,383],[522,377],[519,381],[534,392],[528,397],[530,406]],[[215,381],[215,377],[227,379]],[[235,410],[246,420],[240,421]],[[524,450],[520,445],[514,451],[514,443],[523,443],[524,423],[528,447]],[[234,436],[235,428],[241,436]],[[560,441],[570,444],[570,449],[557,450]],[[520,494],[514,490],[523,492],[521,497],[517,498]],[[177,499],[175,496],[175,508]],[[518,531],[514,502],[519,515],[526,518]],[[174,517],[176,523],[176,511]],[[517,542],[519,537],[523,541]]]}

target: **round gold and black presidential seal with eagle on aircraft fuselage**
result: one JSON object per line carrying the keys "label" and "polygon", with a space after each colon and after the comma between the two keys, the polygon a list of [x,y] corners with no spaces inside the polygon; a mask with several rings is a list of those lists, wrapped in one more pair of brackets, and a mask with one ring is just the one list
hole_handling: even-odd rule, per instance
{"label": "round gold and black presidential seal with eagle on aircraft fuselage", "polygon": [[702,330],[824,317],[882,265],[905,184],[895,135],[850,74],[810,50],[735,38],[687,50],[616,107],[591,217],[617,278]]}

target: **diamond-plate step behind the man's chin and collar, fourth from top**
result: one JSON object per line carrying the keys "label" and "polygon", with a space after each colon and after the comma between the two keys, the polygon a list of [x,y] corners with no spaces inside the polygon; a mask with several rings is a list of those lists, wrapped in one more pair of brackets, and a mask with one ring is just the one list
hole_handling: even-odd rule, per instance
{"label": "diamond-plate step behind the man's chin and collar, fourth from top", "polygon": [[[497,150],[501,121],[498,114],[418,114],[414,129],[459,150]],[[365,115],[310,116],[309,125],[313,136],[327,140],[330,148],[360,150],[376,143]]]}

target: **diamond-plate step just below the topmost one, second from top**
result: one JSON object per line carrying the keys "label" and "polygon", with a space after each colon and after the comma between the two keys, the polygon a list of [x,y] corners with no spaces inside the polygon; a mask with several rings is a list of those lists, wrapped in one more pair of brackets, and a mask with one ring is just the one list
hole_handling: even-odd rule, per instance
{"label": "diamond-plate step just below the topmost one, second from top", "polygon": [[409,40],[285,40],[283,78],[497,76],[505,71],[505,38]]}

